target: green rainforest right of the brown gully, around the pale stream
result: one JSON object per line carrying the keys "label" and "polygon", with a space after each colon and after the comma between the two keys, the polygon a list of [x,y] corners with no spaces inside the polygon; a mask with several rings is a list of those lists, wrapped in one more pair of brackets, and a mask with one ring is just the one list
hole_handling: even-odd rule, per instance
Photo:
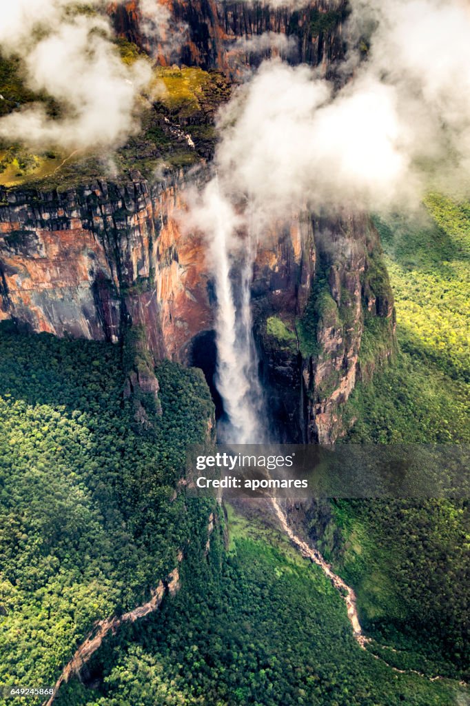
{"label": "green rainforest right of the brown gully, around the pale stream", "polygon": [[[464,349],[463,331],[455,321],[439,323],[464,311],[454,306],[454,292],[468,292],[468,220],[464,206],[437,196],[427,208],[416,222],[376,222],[397,297],[399,349],[356,388],[344,411],[343,443],[468,441],[468,368],[457,370],[457,358],[440,345],[453,329]],[[414,288],[405,286],[409,280]],[[368,342],[372,336],[365,365]],[[228,506],[207,556],[199,526],[176,597],[110,636],[83,683],[64,686],[58,703],[464,703],[458,681],[469,664],[468,503],[336,501],[322,512],[311,537],[357,592],[361,623],[373,638],[366,650],[351,634],[339,594],[289,546],[266,508]],[[438,675],[447,679],[432,681]]]}

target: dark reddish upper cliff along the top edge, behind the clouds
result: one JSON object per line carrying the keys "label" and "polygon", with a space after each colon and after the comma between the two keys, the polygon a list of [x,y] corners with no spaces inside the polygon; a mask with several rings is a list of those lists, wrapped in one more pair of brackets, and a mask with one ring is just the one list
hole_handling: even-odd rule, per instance
{"label": "dark reddish upper cliff along the top edge, behind the clouds", "polygon": [[[256,66],[266,56],[279,53],[279,46],[265,47],[258,52],[253,51],[253,47],[247,51],[236,46],[241,38],[249,40],[265,32],[277,32],[290,38],[289,61],[294,64],[304,61],[314,66],[327,66],[344,52],[345,0],[340,3],[316,0],[299,10],[287,6],[271,8],[259,2],[215,0],[168,0],[165,4],[179,42],[166,45],[160,42],[152,47],[161,64],[176,61],[236,76],[243,66]],[[136,0],[109,4],[108,12],[119,35],[149,49],[141,31]]]}

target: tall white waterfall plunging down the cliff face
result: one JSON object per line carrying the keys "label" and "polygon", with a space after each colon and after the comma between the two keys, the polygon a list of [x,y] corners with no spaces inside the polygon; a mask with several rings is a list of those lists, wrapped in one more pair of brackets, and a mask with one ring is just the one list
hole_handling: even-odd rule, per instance
{"label": "tall white waterfall plunging down the cliff face", "polygon": [[263,390],[251,316],[256,239],[249,232],[243,238],[237,235],[239,220],[217,178],[205,190],[200,219],[208,237],[217,297],[215,385],[227,415],[219,423],[219,438],[226,443],[263,443]]}

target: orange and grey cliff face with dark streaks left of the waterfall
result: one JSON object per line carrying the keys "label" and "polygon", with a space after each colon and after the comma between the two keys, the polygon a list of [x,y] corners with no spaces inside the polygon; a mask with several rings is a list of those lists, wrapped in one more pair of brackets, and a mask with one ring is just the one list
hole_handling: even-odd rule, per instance
{"label": "orange and grey cliff face with dark streaks left of the waterfall", "polygon": [[151,189],[135,173],[121,186],[0,193],[0,319],[111,341],[142,325],[156,359],[178,357],[210,325],[203,249],[174,220],[183,184]]}

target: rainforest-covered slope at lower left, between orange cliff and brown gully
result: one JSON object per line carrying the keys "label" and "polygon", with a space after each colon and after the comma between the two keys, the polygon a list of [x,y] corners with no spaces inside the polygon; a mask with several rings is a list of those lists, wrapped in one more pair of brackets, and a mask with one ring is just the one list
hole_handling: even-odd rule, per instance
{"label": "rainforest-covered slope at lower left, between orange cliff and brown gully", "polygon": [[175,486],[212,401],[159,366],[161,416],[123,400],[119,347],[0,327],[0,680],[53,686],[93,623],[133,609],[178,566],[210,510]]}

